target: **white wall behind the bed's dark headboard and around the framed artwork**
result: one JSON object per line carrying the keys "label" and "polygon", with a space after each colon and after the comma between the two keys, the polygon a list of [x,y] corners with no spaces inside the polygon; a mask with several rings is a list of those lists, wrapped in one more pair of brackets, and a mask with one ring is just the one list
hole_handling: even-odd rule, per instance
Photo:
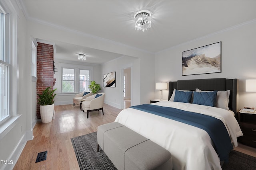
{"label": "white wall behind the bed's dark headboard and around the framed artwork", "polygon": [[[256,93],[245,92],[245,79],[256,78],[256,20],[198,38],[170,49],[156,53],[156,82],[169,82],[201,78],[238,78],[238,107],[256,106]],[[182,76],[182,51],[204,45],[222,42],[222,72]],[[160,92],[156,91],[156,98]],[[168,90],[163,91],[163,98],[168,99]]]}

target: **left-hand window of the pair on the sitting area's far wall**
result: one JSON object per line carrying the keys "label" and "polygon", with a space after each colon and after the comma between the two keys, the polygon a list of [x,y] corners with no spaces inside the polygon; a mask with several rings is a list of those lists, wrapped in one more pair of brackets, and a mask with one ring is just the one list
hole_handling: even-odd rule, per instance
{"label": "left-hand window of the pair on the sitting area's far wall", "polygon": [[75,92],[74,69],[62,68],[62,93]]}

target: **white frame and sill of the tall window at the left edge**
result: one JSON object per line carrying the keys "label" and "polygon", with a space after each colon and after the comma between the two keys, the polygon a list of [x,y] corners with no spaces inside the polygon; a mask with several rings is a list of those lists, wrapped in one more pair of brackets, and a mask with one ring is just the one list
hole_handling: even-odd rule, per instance
{"label": "white frame and sill of the tall window at the left edge", "polygon": [[[9,65],[8,75],[8,109],[9,114],[0,121],[0,140],[10,131],[17,123],[18,118],[22,114],[17,113],[17,21],[18,21],[18,8],[15,8],[11,1],[0,1],[0,12],[8,16],[6,21],[6,41],[5,49],[7,56],[6,61],[0,61],[1,63]],[[7,29],[8,28],[8,29]]]}

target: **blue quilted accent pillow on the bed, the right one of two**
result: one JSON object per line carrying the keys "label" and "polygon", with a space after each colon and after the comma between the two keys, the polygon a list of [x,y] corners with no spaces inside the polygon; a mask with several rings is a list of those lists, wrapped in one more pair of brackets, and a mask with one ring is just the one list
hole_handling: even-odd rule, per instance
{"label": "blue quilted accent pillow on the bed, the right one of two", "polygon": [[217,91],[213,92],[194,92],[193,104],[205,106],[215,106]]}

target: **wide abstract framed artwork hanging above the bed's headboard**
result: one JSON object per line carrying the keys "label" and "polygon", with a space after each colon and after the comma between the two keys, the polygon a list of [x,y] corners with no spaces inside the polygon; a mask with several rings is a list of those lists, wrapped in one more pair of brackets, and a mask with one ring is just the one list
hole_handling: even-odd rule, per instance
{"label": "wide abstract framed artwork hanging above the bed's headboard", "polygon": [[221,41],[182,52],[182,76],[221,72]]}

